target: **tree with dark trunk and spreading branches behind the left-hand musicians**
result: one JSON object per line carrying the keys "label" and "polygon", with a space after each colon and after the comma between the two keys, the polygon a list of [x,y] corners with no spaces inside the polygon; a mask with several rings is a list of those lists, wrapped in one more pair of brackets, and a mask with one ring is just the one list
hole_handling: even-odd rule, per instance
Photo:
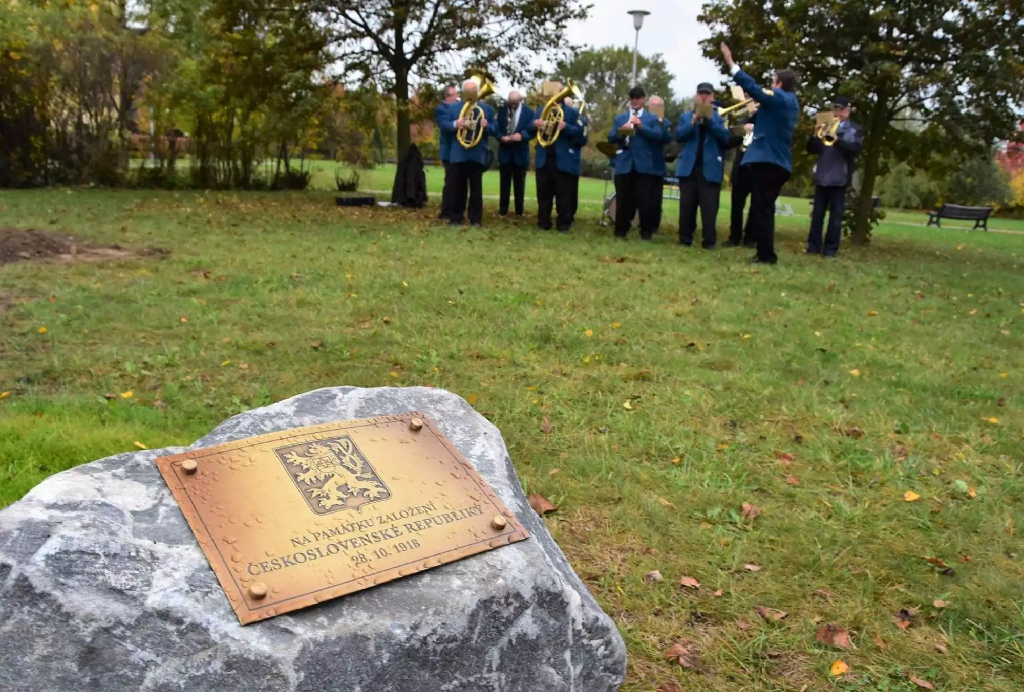
{"label": "tree with dark trunk and spreading branches behind the left-hand musicians", "polygon": [[452,79],[463,58],[520,82],[536,78],[530,58],[563,54],[566,24],[587,8],[582,0],[319,0],[318,12],[346,75],[394,94],[400,158],[416,82]]}

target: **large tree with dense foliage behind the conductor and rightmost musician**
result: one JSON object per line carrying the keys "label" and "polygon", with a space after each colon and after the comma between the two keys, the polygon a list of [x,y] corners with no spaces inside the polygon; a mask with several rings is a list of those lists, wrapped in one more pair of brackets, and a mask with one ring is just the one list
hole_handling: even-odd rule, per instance
{"label": "large tree with dense foliage behind the conductor and rightmost musician", "polygon": [[[705,54],[726,41],[754,75],[792,67],[808,113],[849,95],[865,130],[853,241],[867,243],[883,155],[991,152],[1018,137],[1024,4],[1018,0],[709,0]],[[913,128],[898,125],[911,121]],[[806,129],[806,128],[805,128]],[[799,141],[799,140],[798,140]]]}

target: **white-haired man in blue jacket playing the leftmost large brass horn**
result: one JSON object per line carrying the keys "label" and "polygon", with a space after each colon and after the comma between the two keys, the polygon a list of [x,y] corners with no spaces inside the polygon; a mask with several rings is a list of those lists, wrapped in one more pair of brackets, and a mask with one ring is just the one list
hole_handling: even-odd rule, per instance
{"label": "white-haired man in blue jacket playing the leftmost large brass horn", "polygon": [[[453,141],[451,152],[451,164],[455,168],[455,197],[452,202],[453,225],[461,226],[465,221],[466,197],[469,197],[469,225],[479,226],[483,222],[483,171],[487,167],[490,157],[489,137],[498,134],[498,127],[495,122],[495,110],[476,99],[476,82],[467,80],[462,85],[464,99],[473,100],[483,110],[483,117],[477,127],[483,129],[483,136],[475,146],[465,147],[458,140]],[[467,130],[470,123],[459,118],[464,101],[457,101],[452,104],[450,115],[455,120],[446,123],[444,129],[453,133],[459,130]]]}

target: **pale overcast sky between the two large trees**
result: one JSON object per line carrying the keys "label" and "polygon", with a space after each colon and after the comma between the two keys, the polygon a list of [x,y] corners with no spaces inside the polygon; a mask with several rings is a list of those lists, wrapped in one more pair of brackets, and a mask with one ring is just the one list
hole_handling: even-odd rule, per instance
{"label": "pale overcast sky between the two large trees", "polygon": [[646,9],[640,30],[640,52],[662,53],[669,71],[676,76],[672,88],[681,96],[692,95],[700,82],[718,86],[723,75],[700,54],[697,42],[711,35],[697,21],[703,0],[591,0],[590,18],[569,25],[570,43],[590,46],[628,45],[633,47],[636,32],[631,9]]}

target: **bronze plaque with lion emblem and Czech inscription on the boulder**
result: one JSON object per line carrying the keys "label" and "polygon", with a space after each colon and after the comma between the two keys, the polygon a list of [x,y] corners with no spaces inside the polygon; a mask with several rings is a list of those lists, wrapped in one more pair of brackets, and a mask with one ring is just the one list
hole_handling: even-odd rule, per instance
{"label": "bronze plaque with lion emblem and Czech inscription on the boulder", "polygon": [[243,624],[524,540],[425,414],[157,460]]}

